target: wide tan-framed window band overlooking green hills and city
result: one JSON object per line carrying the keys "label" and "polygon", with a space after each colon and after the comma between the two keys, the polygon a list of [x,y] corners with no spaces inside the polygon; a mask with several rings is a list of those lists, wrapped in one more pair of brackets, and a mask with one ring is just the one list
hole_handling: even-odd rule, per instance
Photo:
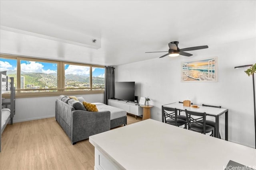
{"label": "wide tan-framed window band overlooking green hills and city", "polygon": [[105,68],[0,54],[0,71],[14,77],[17,97],[103,93]]}

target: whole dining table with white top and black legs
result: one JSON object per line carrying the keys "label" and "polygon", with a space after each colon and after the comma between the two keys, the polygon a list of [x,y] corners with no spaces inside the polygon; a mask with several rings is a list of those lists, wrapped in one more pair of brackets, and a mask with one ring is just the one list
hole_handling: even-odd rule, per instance
{"label": "whole dining table with white top and black legs", "polygon": [[[170,104],[162,105],[164,107],[169,108],[176,108],[178,111],[185,111],[187,109],[188,111],[196,111],[196,112],[205,112],[206,116],[212,116],[215,117],[215,134],[214,136],[216,138],[220,138],[220,116],[225,113],[225,140],[228,141],[228,109],[225,108],[217,108],[217,107],[209,107],[209,106],[200,106],[198,107],[187,107],[183,106],[183,103],[180,102],[174,102]],[[164,115],[162,115],[162,122],[164,122]]]}

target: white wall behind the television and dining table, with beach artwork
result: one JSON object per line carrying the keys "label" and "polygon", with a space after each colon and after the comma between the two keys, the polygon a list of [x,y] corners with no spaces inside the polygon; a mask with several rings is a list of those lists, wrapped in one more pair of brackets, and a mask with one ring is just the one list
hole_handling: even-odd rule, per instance
{"label": "white wall behind the television and dining table, with beach artwork", "polygon": [[[229,140],[254,147],[254,109],[252,76],[234,66],[256,63],[256,39],[246,39],[191,51],[192,57],[164,57],[117,66],[116,81],[135,81],[136,96],[149,96],[154,107],[151,118],[162,121],[161,106],[183,101],[211,104],[229,110]],[[156,54],[161,56],[162,53]],[[180,65],[184,61],[218,58],[218,82],[181,82]],[[224,115],[220,117],[224,137]]]}

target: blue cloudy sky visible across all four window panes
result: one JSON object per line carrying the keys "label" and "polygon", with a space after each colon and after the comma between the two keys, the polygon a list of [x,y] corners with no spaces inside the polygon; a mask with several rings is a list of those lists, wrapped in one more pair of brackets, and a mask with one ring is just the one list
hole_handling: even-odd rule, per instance
{"label": "blue cloudy sky visible across all four window panes", "polygon": [[[57,73],[57,64],[35,61],[20,61],[22,72],[43,72],[46,74]],[[17,62],[13,59],[0,59],[0,71],[17,70]],[[65,64],[65,74],[90,75],[89,66]],[[92,76],[105,77],[105,68],[92,67]]]}

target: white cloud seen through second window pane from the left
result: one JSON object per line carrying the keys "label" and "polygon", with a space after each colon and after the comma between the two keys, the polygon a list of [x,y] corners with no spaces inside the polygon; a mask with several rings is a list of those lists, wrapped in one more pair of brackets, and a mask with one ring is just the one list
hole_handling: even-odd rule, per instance
{"label": "white cloud seen through second window pane from the left", "polygon": [[43,64],[36,63],[35,61],[28,61],[27,63],[20,64],[21,71],[23,72],[43,72],[46,74],[56,73],[55,70],[44,70],[43,67]]}

